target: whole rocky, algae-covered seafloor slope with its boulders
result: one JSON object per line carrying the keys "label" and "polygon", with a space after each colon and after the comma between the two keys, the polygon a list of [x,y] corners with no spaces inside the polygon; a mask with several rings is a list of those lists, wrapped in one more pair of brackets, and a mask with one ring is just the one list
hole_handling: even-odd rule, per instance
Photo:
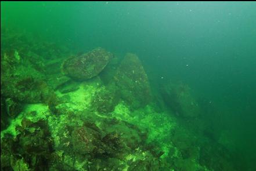
{"label": "whole rocky, algae-covered seafloor slope with its boulders", "polygon": [[236,170],[188,85],[103,48],[1,28],[1,170]]}

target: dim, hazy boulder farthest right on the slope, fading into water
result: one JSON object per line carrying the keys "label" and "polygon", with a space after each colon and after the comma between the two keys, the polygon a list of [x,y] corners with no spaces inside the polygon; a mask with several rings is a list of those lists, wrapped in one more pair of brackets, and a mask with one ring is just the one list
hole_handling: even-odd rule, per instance
{"label": "dim, hazy boulder farthest right on the slope, fading into water", "polygon": [[165,104],[178,116],[194,118],[200,114],[199,104],[188,85],[167,83],[161,88]]}

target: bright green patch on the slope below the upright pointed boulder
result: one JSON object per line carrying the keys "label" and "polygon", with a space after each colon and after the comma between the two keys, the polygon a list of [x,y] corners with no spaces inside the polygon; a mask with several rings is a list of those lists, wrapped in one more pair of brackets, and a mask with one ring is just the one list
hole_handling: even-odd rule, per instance
{"label": "bright green patch on the slope below the upright pointed boulder", "polygon": [[143,129],[147,129],[147,143],[158,142],[160,148],[164,151],[164,154],[161,155],[162,158],[167,157],[172,147],[169,138],[172,130],[176,127],[175,118],[171,118],[170,115],[166,113],[158,113],[154,111],[154,108],[150,105],[147,105],[145,108],[142,108],[137,111],[131,112],[124,103],[117,105],[113,116],[138,125]]}

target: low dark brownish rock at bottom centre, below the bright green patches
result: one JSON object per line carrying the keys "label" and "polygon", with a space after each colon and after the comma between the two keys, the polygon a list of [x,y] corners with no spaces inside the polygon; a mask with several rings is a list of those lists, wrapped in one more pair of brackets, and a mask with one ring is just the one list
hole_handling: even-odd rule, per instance
{"label": "low dark brownish rock at bottom centre, below the bright green patches", "polygon": [[83,126],[74,128],[71,133],[71,145],[77,154],[91,157],[117,157],[124,151],[124,143],[120,133],[103,132],[92,122],[84,122]]}

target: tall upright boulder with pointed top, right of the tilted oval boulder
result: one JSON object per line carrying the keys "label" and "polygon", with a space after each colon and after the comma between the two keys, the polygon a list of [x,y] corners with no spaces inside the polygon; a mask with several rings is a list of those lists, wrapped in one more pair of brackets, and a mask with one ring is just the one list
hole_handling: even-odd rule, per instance
{"label": "tall upright boulder with pointed top, right of the tilted oval boulder", "polygon": [[132,109],[143,107],[151,100],[147,74],[136,54],[127,53],[114,77],[121,98]]}

